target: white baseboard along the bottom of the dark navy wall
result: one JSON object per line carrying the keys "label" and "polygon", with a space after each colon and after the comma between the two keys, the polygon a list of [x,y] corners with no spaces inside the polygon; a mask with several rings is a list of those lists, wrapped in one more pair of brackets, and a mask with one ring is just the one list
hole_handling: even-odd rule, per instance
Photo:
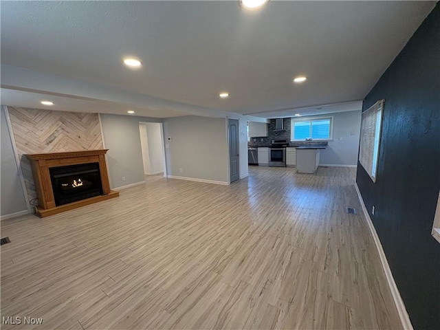
{"label": "white baseboard along the bottom of the dark navy wall", "polygon": [[376,245],[377,252],[380,256],[380,262],[382,263],[382,268],[384,269],[386,281],[388,282],[388,286],[391,289],[391,294],[393,295],[393,300],[397,308],[397,312],[399,313],[399,318],[403,329],[413,330],[410,317],[408,316],[408,312],[406,311],[406,307],[404,304],[404,300],[402,300],[399,289],[394,281],[393,273],[391,273],[390,265],[388,265],[388,261],[386,260],[384,249],[382,248],[382,243],[380,243],[379,236],[377,236],[377,232],[374,228],[373,221],[371,221],[370,214],[367,212],[364,199],[362,199],[362,195],[360,194],[360,190],[358,184],[355,183],[356,192],[358,193],[358,197],[360,203],[362,205],[362,210],[364,210],[366,222],[369,225],[371,234],[373,235],[374,243]]}

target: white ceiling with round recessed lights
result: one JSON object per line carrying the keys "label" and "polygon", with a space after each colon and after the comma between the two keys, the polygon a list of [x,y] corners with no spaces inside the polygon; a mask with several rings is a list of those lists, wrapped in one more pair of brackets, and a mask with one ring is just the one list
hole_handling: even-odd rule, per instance
{"label": "white ceiling with round recessed lights", "polygon": [[[358,107],[351,101],[366,96],[434,5],[270,1],[248,11],[238,1],[2,1],[1,63],[9,69],[2,66],[1,102],[41,107],[32,104],[58,96],[59,110],[136,107],[159,118]],[[137,56],[143,67],[127,69],[124,56]],[[34,85],[11,68],[31,69]],[[39,74],[64,83],[39,84]],[[309,79],[292,83],[298,75]],[[74,83],[94,88],[74,93]],[[94,89],[109,97],[95,97]],[[220,91],[230,98],[220,99]]]}

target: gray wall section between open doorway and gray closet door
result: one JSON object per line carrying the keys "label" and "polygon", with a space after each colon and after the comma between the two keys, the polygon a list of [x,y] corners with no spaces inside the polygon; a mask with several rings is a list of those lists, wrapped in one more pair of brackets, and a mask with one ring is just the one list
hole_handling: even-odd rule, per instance
{"label": "gray wall section between open doorway and gray closet door", "polygon": [[229,182],[225,118],[166,118],[164,140],[168,175]]}

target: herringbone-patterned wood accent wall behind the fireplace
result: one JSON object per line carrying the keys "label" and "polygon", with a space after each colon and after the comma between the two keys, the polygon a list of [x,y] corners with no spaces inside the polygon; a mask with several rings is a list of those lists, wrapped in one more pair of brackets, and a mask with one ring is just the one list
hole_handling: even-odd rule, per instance
{"label": "herringbone-patterned wood accent wall behind the fireplace", "polygon": [[21,169],[34,206],[36,192],[27,153],[62,153],[102,149],[97,113],[8,107]]}

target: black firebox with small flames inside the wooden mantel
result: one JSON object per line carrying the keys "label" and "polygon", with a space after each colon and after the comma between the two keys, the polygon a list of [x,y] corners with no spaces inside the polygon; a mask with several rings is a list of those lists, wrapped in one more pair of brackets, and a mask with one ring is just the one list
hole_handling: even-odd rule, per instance
{"label": "black firebox with small flames inside the wooden mantel", "polygon": [[60,166],[49,172],[56,206],[102,195],[98,163]]}

